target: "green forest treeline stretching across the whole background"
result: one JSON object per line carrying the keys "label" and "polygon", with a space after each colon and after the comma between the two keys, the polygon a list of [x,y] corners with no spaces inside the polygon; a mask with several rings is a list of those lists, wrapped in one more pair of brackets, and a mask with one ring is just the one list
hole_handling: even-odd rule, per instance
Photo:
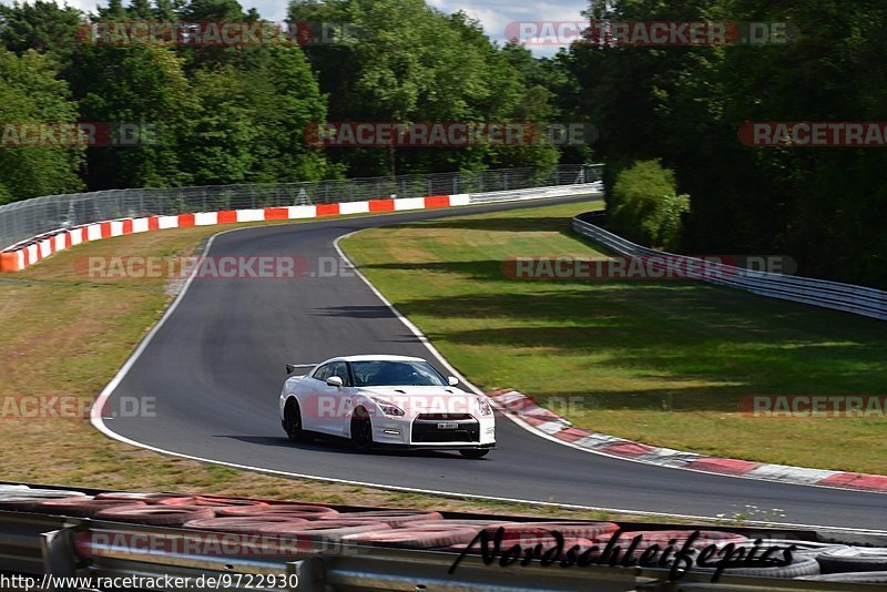
{"label": "green forest treeline stretching across the whole background", "polygon": [[[84,23],[263,17],[236,0],[111,0],[94,14],[43,1],[0,6],[0,123],[157,130],[139,149],[0,144],[0,203],[593,160],[608,163],[611,187],[622,180],[620,200],[640,196],[620,202],[618,222],[655,211],[665,225],[635,233],[648,242],[785,254],[806,275],[887,287],[885,149],[751,146],[740,137],[747,122],[887,121],[887,6],[591,0],[584,17],[789,23],[795,34],[691,47],[579,39],[534,58],[422,0],[294,0],[290,22],[347,24],[336,42],[114,44],[84,39]],[[318,147],[306,139],[312,124],[348,121],[591,122],[598,133],[590,145]]]}

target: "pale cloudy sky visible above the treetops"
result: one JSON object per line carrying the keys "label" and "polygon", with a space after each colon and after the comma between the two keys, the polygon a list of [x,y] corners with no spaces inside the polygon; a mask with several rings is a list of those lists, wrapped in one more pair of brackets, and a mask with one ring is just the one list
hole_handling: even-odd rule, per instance
{"label": "pale cloudy sky visible above the treetops", "polygon": [[[96,0],[57,0],[59,3],[79,8],[84,12],[94,12]],[[428,4],[441,12],[462,10],[480,21],[490,39],[503,41],[506,27],[518,21],[577,21],[580,12],[588,8],[589,0],[561,0],[560,2],[539,2],[534,0],[426,0]],[[263,18],[279,21],[286,18],[287,0],[239,0],[244,10],[255,8]],[[0,0],[11,4],[12,0]],[[129,1],[124,0],[124,4]],[[553,55],[558,45],[529,45],[534,55]]]}

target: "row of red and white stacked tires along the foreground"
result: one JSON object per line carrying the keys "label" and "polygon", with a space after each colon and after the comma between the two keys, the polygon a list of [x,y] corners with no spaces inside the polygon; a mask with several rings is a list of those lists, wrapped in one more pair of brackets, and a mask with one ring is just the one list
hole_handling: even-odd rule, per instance
{"label": "row of red and white stacked tires along the foreground", "polygon": [[[726,575],[794,578],[826,582],[887,584],[887,548],[861,548],[802,540],[751,540],[727,530],[628,530],[614,522],[508,521],[490,519],[446,519],[440,512],[425,510],[339,511],[310,502],[272,502],[216,496],[174,496],[169,493],[109,492],[88,496],[81,491],[35,489],[27,486],[0,486],[0,511],[42,512],[55,516],[90,518],[231,535],[263,535],[292,539],[308,545],[347,543],[350,545],[392,547],[438,550],[452,553],[480,553],[478,539],[499,539],[500,549],[520,545],[526,549],[557,547],[554,532],[563,540],[562,549],[583,550],[615,541],[623,552],[639,535],[638,554],[656,545],[680,548],[696,533],[693,548],[727,544],[751,549],[794,545],[793,561],[784,567],[731,568]],[[201,533],[201,534],[198,534]],[[89,545],[86,545],[89,547]],[[283,545],[277,547],[284,550]],[[286,548],[292,553],[293,548]],[[314,547],[299,547],[309,552]],[[91,552],[90,549],[85,549]],[[292,554],[290,554],[292,557]],[[557,558],[563,559],[563,558]],[[661,567],[670,568],[665,561]],[[694,565],[694,571],[714,571]]]}

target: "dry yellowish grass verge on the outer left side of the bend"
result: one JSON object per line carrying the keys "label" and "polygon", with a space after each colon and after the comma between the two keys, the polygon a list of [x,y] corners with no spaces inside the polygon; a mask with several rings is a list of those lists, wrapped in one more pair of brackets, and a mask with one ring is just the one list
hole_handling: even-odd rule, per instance
{"label": "dry yellowish grass verge on the outer left side of the bend", "polygon": [[[170,304],[164,278],[84,277],[86,258],[187,256],[222,229],[254,225],[179,228],[96,241],[23,272],[0,275],[0,400],[64,395],[92,401]],[[85,419],[0,417],[0,479],[461,512],[631,518],[269,477],[109,440]]]}

